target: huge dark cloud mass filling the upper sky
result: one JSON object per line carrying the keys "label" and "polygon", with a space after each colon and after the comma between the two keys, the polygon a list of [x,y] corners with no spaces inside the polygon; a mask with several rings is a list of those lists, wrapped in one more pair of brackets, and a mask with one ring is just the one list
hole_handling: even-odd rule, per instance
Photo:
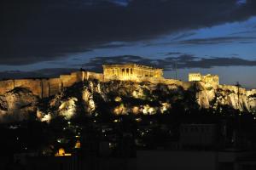
{"label": "huge dark cloud mass filling the upper sky", "polygon": [[[166,33],[247,20],[247,0],[2,0],[2,65],[26,65],[84,52],[116,41],[145,40]],[[183,35],[189,36],[189,35]],[[181,37],[177,37],[181,38]]]}

